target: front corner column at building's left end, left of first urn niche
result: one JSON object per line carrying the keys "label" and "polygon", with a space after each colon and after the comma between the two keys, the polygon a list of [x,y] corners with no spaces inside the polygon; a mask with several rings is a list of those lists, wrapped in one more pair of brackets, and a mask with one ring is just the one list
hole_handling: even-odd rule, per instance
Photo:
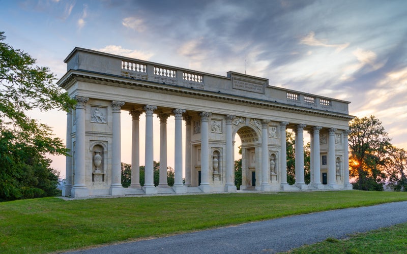
{"label": "front corner column at building's left end, left of first urn niche", "polygon": [[76,132],[75,132],[75,179],[71,190],[73,198],[89,196],[85,185],[85,111],[87,97],[76,96]]}

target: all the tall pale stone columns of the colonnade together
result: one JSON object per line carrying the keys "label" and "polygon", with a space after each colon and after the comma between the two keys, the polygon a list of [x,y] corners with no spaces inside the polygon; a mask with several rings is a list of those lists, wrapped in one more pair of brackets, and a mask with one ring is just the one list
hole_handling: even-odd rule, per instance
{"label": "all the tall pale stone columns of the colonnade together", "polygon": [[[88,190],[85,183],[85,109],[86,103],[89,98],[76,96],[77,105],[75,108],[75,121],[73,120],[72,112],[67,114],[67,147],[72,149],[74,160],[70,157],[67,158],[67,184],[64,189],[64,196],[71,194],[73,197],[89,196]],[[121,184],[121,108],[125,105],[122,101],[112,101],[112,139],[111,139],[111,184],[110,184],[110,195],[120,196],[124,194],[124,190]],[[157,106],[145,105],[142,110],[130,110],[129,114],[132,116],[132,179],[130,188],[140,188],[139,179],[139,117],[142,113],[145,113],[146,117],[146,144],[145,144],[145,179],[143,191],[146,194],[157,194],[157,187],[154,186],[153,177],[153,114],[157,110]],[[186,186],[191,185],[191,170],[189,166],[191,165],[191,153],[190,148],[190,133],[191,133],[191,116],[184,115],[186,113],[185,109],[173,109],[171,112],[175,115],[175,184],[172,189],[175,193],[185,193]],[[170,114],[159,113],[157,116],[160,119],[160,181],[158,187],[168,187],[167,185],[167,118]],[[200,157],[201,165],[201,182],[199,188],[202,192],[209,193],[212,192],[211,181],[209,179],[210,175],[210,165],[209,157],[212,156],[210,152],[210,140],[209,140],[209,120],[211,118],[211,112],[200,112]],[[236,186],[234,184],[234,156],[233,156],[233,142],[232,142],[232,120],[236,118],[235,115],[224,115],[225,119],[225,192],[236,192]],[[183,176],[183,149],[182,149],[182,121],[185,120],[186,133],[186,152],[185,152],[185,162],[187,165],[187,170],[185,172],[185,185],[182,182]],[[270,161],[269,161],[269,128],[270,119],[261,119],[261,185],[260,190],[269,191],[270,187]],[[75,124],[75,142],[74,146],[72,143],[72,123]],[[287,190],[287,176],[286,176],[286,129],[289,122],[281,121],[279,136],[280,136],[280,189]],[[308,126],[308,133],[311,137],[310,152],[311,152],[311,182],[306,185],[304,182],[304,128],[307,125],[305,123],[293,123],[290,128],[293,128],[296,133],[296,187],[299,189],[319,189],[324,188],[321,182],[321,154],[320,154],[320,131],[323,126]],[[335,155],[335,133],[337,129],[335,128],[325,128],[328,129],[329,139],[328,139],[328,186],[336,188],[336,155]],[[349,185],[348,176],[348,140],[347,131],[342,132],[343,144],[343,184],[344,186]],[[105,158],[107,159],[107,158]],[[74,165],[72,165],[74,161]],[[74,174],[72,174],[72,168],[75,168]],[[72,178],[71,176],[74,176]],[[72,182],[74,183],[72,185]],[[341,187],[343,188],[343,187]],[[346,187],[345,187],[346,188]]]}

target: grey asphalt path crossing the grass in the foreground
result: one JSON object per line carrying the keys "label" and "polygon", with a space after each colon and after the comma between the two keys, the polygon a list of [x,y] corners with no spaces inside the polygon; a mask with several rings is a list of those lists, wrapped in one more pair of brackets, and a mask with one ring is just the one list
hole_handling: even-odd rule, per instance
{"label": "grey asphalt path crossing the grass in the foreground", "polygon": [[70,253],[274,253],[407,222],[407,201],[258,221]]}

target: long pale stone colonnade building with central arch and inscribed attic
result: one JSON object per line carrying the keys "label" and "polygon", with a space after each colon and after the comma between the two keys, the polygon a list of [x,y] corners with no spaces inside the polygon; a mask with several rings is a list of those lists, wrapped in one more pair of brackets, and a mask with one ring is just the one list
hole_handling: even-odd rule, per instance
{"label": "long pale stone colonnade building with central arch and inscribed attic", "polygon": [[[77,105],[67,114],[72,156],[66,161],[63,196],[157,194],[163,189],[176,194],[236,192],[236,135],[242,142],[243,190],[352,188],[349,102],[270,86],[268,79],[236,72],[219,76],[83,48],[75,48],[65,62],[67,73],[58,84]],[[129,188],[121,184],[121,113],[126,111],[132,117]],[[160,119],[160,133],[153,132],[154,114]],[[175,116],[175,184],[168,188],[170,115]],[[140,117],[146,120],[143,186]],[[287,184],[287,129],[295,132],[295,185]],[[304,182],[304,132],[310,135],[309,184]],[[158,186],[153,182],[154,136],[160,137]]]}

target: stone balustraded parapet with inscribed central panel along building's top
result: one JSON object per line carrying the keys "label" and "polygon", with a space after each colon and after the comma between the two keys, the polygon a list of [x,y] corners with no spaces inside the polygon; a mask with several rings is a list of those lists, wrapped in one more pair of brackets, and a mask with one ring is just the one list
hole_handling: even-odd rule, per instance
{"label": "stone balustraded parapet with inscribed central panel along building's top", "polygon": [[174,89],[216,93],[217,97],[238,96],[242,100],[261,100],[277,106],[287,105],[348,114],[350,103],[272,86],[266,78],[231,71],[227,72],[227,76],[220,76],[89,49],[75,48],[65,62],[68,71],[84,70],[133,80],[154,81],[164,86],[173,86]]}

